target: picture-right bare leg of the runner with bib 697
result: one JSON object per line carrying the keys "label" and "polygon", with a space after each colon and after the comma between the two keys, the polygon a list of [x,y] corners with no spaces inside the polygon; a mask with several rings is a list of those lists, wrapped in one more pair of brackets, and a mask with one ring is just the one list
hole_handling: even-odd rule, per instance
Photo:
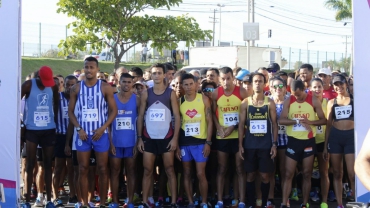
{"label": "picture-right bare leg of the runner with bib 697", "polygon": [[173,167],[174,163],[174,152],[166,152],[162,154],[163,157],[163,165],[164,169],[167,174],[168,182],[170,185],[170,191],[171,191],[171,203],[176,203],[176,197],[177,197],[177,180],[175,175],[175,169]]}

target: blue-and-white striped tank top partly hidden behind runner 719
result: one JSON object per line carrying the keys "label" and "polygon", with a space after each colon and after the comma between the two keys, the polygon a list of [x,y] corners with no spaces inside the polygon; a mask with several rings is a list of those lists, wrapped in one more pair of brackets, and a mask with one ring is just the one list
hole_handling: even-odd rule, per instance
{"label": "blue-and-white striped tank top partly hidden behind runner 719", "polygon": [[59,93],[59,110],[58,110],[58,119],[57,119],[57,133],[66,134],[69,117],[68,117],[68,103],[69,100],[64,96],[64,92]]}

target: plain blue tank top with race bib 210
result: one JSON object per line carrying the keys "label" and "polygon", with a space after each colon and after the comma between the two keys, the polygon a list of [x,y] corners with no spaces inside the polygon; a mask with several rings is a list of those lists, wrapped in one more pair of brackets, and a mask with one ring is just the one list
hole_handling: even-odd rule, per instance
{"label": "plain blue tank top with race bib 210", "polygon": [[112,122],[112,141],[116,147],[133,147],[136,143],[136,95],[132,93],[126,103],[122,103],[118,94],[114,94],[118,114]]}

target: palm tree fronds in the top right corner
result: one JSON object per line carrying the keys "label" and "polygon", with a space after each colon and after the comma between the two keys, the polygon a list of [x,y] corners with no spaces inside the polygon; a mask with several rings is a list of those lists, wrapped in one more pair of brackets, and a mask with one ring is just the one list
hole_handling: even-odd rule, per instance
{"label": "palm tree fronds in the top right corner", "polygon": [[352,0],[326,0],[325,6],[337,11],[335,14],[337,21],[352,19]]}

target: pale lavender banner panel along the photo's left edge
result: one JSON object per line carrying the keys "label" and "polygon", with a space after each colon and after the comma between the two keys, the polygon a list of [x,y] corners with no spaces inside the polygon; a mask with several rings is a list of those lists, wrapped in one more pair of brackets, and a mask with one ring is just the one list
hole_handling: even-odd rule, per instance
{"label": "pale lavender banner panel along the photo's left edge", "polygon": [[0,207],[17,207],[20,165],[21,0],[0,0]]}

